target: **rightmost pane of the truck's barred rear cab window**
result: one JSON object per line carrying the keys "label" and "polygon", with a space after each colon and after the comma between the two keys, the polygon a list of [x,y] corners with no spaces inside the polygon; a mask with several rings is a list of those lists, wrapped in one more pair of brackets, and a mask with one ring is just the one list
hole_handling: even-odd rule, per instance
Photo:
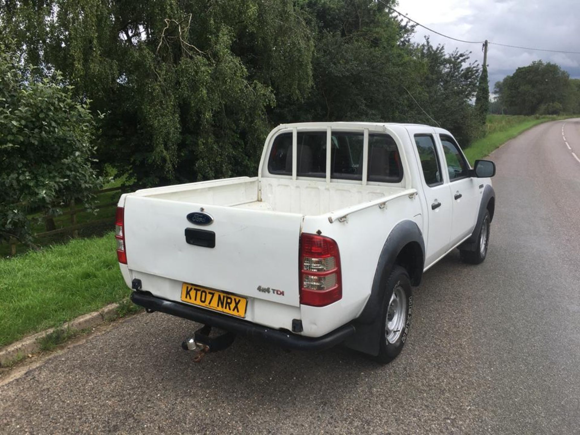
{"label": "rightmost pane of the truck's barred rear cab window", "polygon": [[383,183],[398,183],[403,179],[401,157],[391,136],[369,133],[367,179]]}

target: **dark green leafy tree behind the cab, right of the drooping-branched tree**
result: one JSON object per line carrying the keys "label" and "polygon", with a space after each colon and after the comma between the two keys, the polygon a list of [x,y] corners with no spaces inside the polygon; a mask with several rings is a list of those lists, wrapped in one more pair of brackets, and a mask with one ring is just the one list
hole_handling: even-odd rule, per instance
{"label": "dark green leafy tree behind the cab, right of the drooping-branched tree", "polygon": [[[412,29],[369,0],[309,1],[314,86],[303,102],[272,112],[276,122],[393,121],[405,113],[404,88],[418,84],[408,38]],[[407,45],[407,46],[405,46]]]}

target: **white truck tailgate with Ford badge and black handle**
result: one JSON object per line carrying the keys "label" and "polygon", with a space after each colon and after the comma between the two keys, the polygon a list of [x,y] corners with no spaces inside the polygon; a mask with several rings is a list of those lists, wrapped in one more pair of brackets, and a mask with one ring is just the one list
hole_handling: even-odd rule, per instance
{"label": "white truck tailgate with Ford badge and black handle", "polygon": [[[186,218],[200,208],[213,217],[208,226],[197,226]],[[128,195],[124,226],[128,267],[218,291],[299,306],[302,219],[296,213]],[[188,228],[213,231],[215,247],[188,244]],[[154,289],[150,291],[155,293]],[[179,298],[176,293],[175,299]]]}

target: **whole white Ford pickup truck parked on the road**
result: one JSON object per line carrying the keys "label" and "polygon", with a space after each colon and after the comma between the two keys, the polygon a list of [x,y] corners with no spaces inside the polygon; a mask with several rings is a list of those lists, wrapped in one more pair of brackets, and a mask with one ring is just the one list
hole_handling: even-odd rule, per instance
{"label": "whole white Ford pickup truck parked on the road", "polygon": [[[494,175],[491,161],[470,168],[441,128],[280,125],[257,177],[122,195],[119,266],[134,303],[206,325],[185,349],[242,334],[287,349],[343,343],[388,362],[423,272],[454,248],[485,259]],[[209,338],[212,326],[226,338]]]}

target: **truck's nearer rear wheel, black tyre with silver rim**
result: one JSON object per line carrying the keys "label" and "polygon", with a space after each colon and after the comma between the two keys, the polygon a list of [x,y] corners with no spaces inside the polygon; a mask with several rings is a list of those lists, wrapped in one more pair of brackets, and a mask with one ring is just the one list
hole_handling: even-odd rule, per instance
{"label": "truck's nearer rear wheel, black tyre with silver rim", "polygon": [[379,362],[392,361],[405,345],[411,324],[413,297],[409,274],[401,266],[394,266],[386,284],[381,311]]}

